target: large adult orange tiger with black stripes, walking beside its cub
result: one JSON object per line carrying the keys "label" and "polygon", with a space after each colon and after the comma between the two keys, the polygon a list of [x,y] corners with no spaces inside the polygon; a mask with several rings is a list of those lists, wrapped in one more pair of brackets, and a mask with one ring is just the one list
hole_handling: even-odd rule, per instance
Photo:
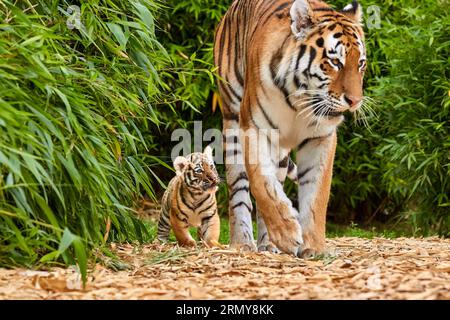
{"label": "large adult orange tiger with black stripes, walking beside its cub", "polygon": [[[232,246],[255,249],[251,189],[259,250],[272,242],[297,256],[323,251],[336,130],[363,99],[361,19],[356,1],[338,12],[315,0],[235,0],[218,26]],[[278,130],[279,138],[262,129]],[[250,139],[251,130],[263,133]],[[299,211],[283,191],[292,150]]]}

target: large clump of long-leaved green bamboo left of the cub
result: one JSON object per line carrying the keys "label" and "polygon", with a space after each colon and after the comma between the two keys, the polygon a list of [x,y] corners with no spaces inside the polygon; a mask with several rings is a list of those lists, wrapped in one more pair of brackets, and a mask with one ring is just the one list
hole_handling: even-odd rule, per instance
{"label": "large clump of long-leaved green bamboo left of the cub", "polygon": [[130,207],[157,185],[145,133],[169,57],[154,1],[83,3],[79,30],[72,4],[0,3],[0,265],[62,255],[85,275],[108,220],[110,239],[148,237]]}

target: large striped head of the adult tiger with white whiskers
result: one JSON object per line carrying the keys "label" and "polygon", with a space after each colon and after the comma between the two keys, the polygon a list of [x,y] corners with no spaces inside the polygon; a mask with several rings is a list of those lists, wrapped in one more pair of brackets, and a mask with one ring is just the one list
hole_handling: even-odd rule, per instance
{"label": "large striped head of the adult tiger with white whiskers", "polygon": [[291,29],[299,46],[295,66],[298,94],[316,116],[340,117],[363,101],[366,49],[362,8],[353,1],[335,11],[322,1],[295,0]]}

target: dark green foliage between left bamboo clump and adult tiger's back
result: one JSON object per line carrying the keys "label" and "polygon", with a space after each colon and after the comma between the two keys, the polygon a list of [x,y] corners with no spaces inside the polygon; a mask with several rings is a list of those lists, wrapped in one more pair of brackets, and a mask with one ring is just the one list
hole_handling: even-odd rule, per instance
{"label": "dark green foliage between left bamboo clump and adult tiger's back", "polygon": [[181,98],[177,110],[190,107],[182,119],[173,121],[188,126],[190,121],[208,119],[208,127],[219,128],[220,117],[208,117],[211,94],[215,91],[213,40],[215,28],[231,1],[166,0],[164,3],[167,8],[158,19],[162,29],[159,40],[174,64],[168,77],[170,87]]}

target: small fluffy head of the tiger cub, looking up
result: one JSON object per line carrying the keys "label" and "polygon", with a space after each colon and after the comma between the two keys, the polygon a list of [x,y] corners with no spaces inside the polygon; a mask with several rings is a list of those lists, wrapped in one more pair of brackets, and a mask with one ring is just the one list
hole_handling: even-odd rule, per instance
{"label": "small fluffy head of the tiger cub, looking up", "polygon": [[197,192],[216,192],[220,177],[214,165],[211,147],[203,153],[191,153],[186,157],[177,157],[174,161],[177,176],[181,176],[185,185]]}

